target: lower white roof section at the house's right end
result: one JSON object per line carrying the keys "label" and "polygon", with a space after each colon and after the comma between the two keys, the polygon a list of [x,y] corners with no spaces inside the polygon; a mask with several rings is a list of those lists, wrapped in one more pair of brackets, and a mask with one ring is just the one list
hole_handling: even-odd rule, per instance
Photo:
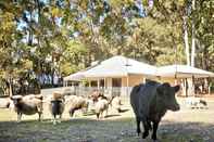
{"label": "lower white roof section at the house's right end", "polygon": [[177,78],[204,78],[214,77],[214,73],[206,72],[188,65],[167,65],[159,67],[158,76]]}

